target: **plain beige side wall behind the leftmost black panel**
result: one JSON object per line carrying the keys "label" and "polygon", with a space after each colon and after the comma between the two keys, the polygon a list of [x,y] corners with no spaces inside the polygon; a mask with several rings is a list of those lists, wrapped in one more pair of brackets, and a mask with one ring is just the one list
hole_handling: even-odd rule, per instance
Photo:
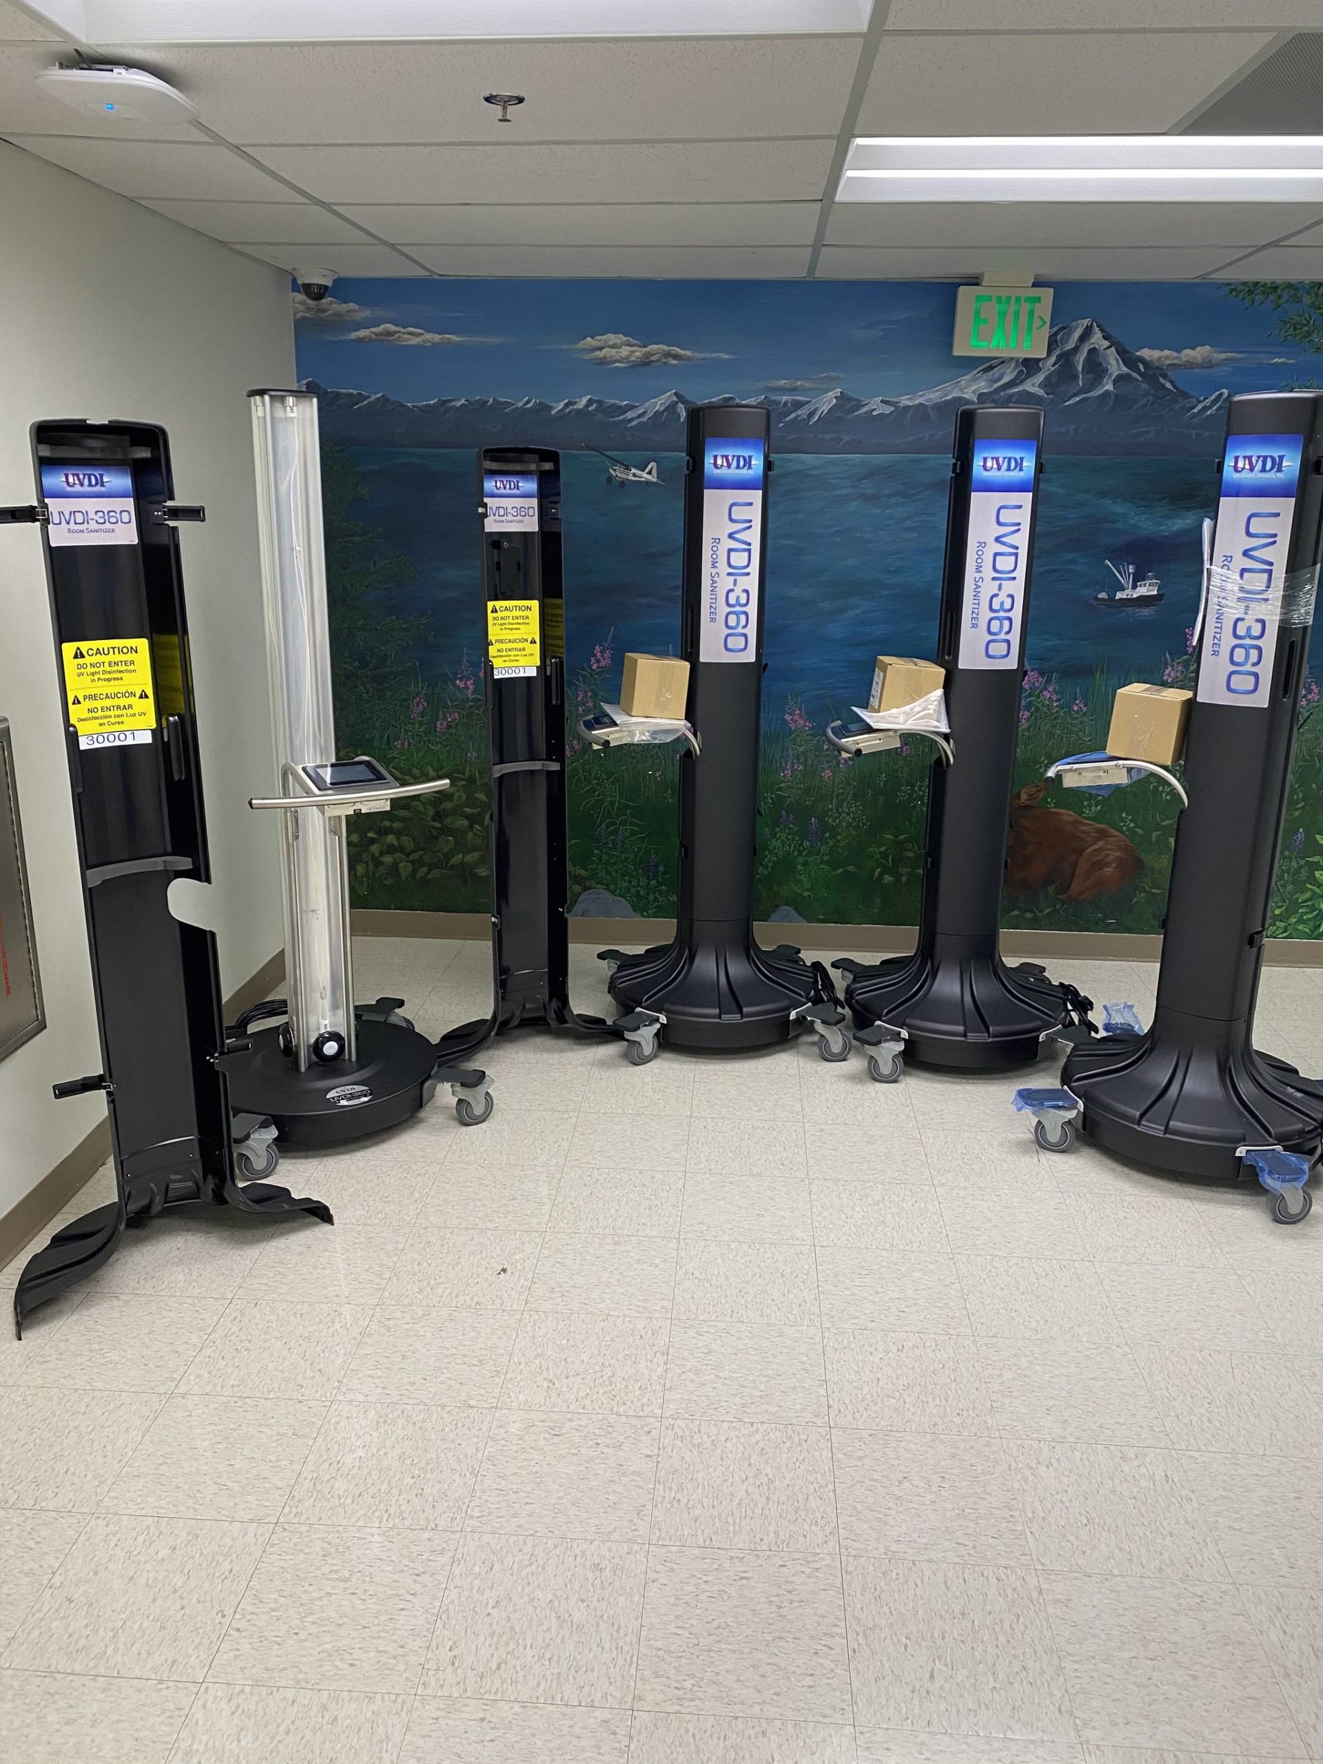
{"label": "plain beige side wall behind the leftmost black panel", "polygon": [[[28,425],[164,423],[182,527],[226,993],[280,946],[250,386],[293,385],[286,277],[0,143],[0,503],[34,497]],[[51,1085],[99,1069],[41,538],[0,527],[0,716],[14,769],[48,1028],[0,1060],[0,1215],[104,1117]]]}

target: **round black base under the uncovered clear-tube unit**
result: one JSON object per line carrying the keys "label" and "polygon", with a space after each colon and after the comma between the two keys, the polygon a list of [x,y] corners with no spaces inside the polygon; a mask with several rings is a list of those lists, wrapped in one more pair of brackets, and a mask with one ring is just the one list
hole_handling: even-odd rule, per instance
{"label": "round black base under the uncovered clear-tube unit", "polygon": [[279,1028],[249,1039],[247,1053],[226,1055],[229,1099],[235,1110],[270,1115],[280,1147],[342,1145],[383,1132],[416,1115],[436,1090],[436,1048],[404,1023],[360,1018],[356,1058],[305,1073],[280,1051]]}

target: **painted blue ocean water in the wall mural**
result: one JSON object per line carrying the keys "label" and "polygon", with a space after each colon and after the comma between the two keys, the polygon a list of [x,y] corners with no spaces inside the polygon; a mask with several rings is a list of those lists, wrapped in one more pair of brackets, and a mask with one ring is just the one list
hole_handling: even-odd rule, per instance
{"label": "painted blue ocean water in the wall mural", "polygon": [[[404,554],[413,582],[397,610],[427,614],[423,679],[482,653],[476,462],[446,450],[351,448],[367,497],[351,512]],[[649,455],[626,455],[644,466]],[[660,483],[617,485],[596,453],[564,453],[570,665],[614,633],[624,649],[679,642],[683,455],[660,455]],[[871,679],[873,656],[931,654],[937,633],[949,460],[942,455],[776,459],[769,483],[766,704],[799,697],[840,714]],[[1198,459],[1048,460],[1041,480],[1028,665],[1064,679],[1155,679],[1185,653],[1200,596],[1200,527],[1215,473]],[[1136,612],[1090,605],[1115,580],[1104,559],[1152,572],[1166,594]]]}

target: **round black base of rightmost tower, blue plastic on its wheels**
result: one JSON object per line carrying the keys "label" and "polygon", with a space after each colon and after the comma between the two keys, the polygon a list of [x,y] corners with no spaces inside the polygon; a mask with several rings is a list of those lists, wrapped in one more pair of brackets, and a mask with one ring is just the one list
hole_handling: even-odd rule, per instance
{"label": "round black base of rightmost tower, blue plastic on its wheels", "polygon": [[1318,1157],[1323,1140],[1323,1085],[1258,1053],[1244,1018],[1161,1013],[1147,1035],[1073,1048],[1062,1085],[1087,1140],[1178,1177],[1252,1182],[1240,1147]]}

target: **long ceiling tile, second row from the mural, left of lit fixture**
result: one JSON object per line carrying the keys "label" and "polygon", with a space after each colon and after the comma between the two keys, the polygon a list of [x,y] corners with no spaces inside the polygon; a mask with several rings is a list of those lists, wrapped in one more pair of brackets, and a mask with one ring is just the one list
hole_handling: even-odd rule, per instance
{"label": "long ceiling tile, second row from the mural, left of lit fixture", "polygon": [[[348,206],[395,245],[810,245],[818,203]],[[1259,243],[1251,240],[1251,243]]]}

